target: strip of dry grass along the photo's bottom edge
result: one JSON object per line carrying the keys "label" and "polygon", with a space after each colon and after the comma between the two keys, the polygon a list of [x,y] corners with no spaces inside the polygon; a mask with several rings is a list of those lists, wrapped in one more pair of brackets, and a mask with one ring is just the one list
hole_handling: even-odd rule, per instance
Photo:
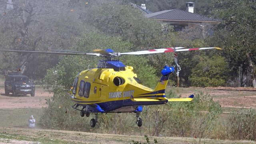
{"label": "strip of dry grass along the photo's bottom edge", "polygon": [[[132,140],[146,142],[144,136],[97,134],[64,130],[0,128],[0,138],[41,142],[42,144],[132,144]],[[253,141],[211,140],[180,137],[149,137],[159,144],[255,144]],[[1,142],[1,141],[0,141]]]}

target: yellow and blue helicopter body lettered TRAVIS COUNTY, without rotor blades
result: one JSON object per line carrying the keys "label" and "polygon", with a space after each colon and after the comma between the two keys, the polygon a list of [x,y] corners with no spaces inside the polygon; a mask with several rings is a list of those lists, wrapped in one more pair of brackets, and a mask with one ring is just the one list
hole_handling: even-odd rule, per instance
{"label": "yellow and blue helicopter body lettered TRAVIS COUNTY, without rotor blades", "polygon": [[[142,105],[168,102],[164,91],[169,74],[162,77],[158,88],[152,90],[140,83],[137,74],[132,71],[132,66],[119,65],[116,68],[101,68],[109,64],[110,62],[100,61],[98,68],[84,70],[76,77],[71,100],[83,106],[85,111],[136,112],[142,111]],[[148,100],[136,101],[137,98]]]}

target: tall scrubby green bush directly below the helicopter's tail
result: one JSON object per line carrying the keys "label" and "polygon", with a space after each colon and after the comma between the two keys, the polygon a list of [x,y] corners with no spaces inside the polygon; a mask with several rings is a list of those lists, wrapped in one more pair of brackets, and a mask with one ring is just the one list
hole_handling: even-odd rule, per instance
{"label": "tall scrubby green bush directly below the helicopter's tail", "polygon": [[[172,95],[174,96],[174,95]],[[218,102],[208,94],[196,94],[192,102],[170,102],[144,108],[146,132],[152,136],[185,136],[202,138],[214,127],[221,112]]]}

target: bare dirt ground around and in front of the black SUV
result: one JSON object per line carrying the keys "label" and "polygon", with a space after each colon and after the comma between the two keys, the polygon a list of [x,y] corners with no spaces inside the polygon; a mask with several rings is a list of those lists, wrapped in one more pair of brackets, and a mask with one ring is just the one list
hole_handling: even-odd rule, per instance
{"label": "bare dirt ground around and in front of the black SUV", "polygon": [[41,87],[36,87],[35,96],[30,94],[12,96],[4,94],[4,88],[0,88],[0,109],[7,108],[42,108],[46,107],[46,99],[53,96],[52,92],[44,90]]}

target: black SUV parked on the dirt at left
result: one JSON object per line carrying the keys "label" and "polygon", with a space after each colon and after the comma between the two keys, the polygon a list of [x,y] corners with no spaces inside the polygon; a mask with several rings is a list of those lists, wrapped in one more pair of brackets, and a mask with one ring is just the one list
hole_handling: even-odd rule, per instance
{"label": "black SUV parked on the dirt at left", "polygon": [[5,94],[12,93],[13,96],[17,94],[30,94],[35,96],[35,85],[27,76],[22,74],[10,74],[6,77],[4,82]]}

